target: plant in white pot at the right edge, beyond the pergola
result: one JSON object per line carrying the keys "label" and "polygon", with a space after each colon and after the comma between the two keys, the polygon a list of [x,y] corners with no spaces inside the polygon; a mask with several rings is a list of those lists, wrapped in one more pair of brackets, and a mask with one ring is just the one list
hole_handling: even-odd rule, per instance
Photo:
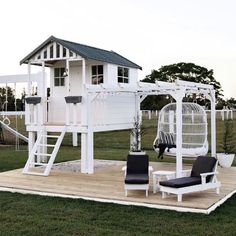
{"label": "plant in white pot at the right edge, beyond the pergola", "polygon": [[221,167],[230,167],[235,156],[235,137],[233,120],[224,120],[224,131],[221,147],[224,153],[218,153],[217,158]]}

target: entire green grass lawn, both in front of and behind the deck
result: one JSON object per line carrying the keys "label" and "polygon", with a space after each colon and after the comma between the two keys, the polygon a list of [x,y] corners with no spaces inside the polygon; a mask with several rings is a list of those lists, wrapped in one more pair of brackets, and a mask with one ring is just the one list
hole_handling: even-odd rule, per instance
{"label": "entire green grass lawn, both in front of and behind the deck", "polygon": [[[144,119],[143,149],[157,161],[152,149],[156,121]],[[22,129],[22,127],[21,127]],[[24,131],[22,131],[24,132]],[[218,151],[222,122],[217,120]],[[6,140],[11,139],[5,134]],[[14,143],[14,139],[12,139]],[[80,158],[66,135],[56,161]],[[129,131],[95,134],[95,158],[125,160]],[[0,147],[0,171],[22,168],[27,151]],[[21,149],[26,146],[21,145]],[[160,160],[158,160],[160,161]],[[164,158],[174,162],[174,159]],[[235,165],[234,161],[234,165]],[[178,213],[143,207],[0,192],[0,235],[236,235],[236,195],[210,215]]]}

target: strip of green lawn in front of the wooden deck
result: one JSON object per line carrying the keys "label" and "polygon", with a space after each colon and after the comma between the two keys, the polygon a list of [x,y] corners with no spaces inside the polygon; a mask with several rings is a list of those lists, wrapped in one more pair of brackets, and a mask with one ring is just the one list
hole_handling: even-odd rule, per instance
{"label": "strip of green lawn in front of the wooden deck", "polygon": [[235,203],[202,215],[1,192],[0,235],[233,236]]}

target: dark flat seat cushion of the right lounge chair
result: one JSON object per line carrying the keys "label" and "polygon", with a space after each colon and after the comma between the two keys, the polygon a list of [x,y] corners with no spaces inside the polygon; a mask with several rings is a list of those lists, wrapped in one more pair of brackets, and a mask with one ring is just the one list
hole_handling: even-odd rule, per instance
{"label": "dark flat seat cushion of the right lounge chair", "polygon": [[183,188],[197,184],[201,184],[201,177],[182,177],[160,182],[160,185],[172,188]]}

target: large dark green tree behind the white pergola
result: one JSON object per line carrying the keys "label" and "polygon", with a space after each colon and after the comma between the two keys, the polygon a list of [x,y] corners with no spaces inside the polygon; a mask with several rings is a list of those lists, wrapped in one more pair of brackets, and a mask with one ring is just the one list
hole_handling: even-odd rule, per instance
{"label": "large dark green tree behind the white pergola", "polygon": [[[158,70],[152,70],[151,74],[147,75],[142,81],[148,83],[155,83],[156,80],[174,82],[176,79],[213,85],[216,90],[216,100],[220,101],[222,99],[223,90],[221,84],[215,80],[213,70],[208,70],[205,67],[195,65],[194,63],[180,62],[177,64],[162,66]],[[201,105],[205,105],[201,96],[196,97],[193,95],[187,97],[185,100],[196,100]],[[160,109],[161,106],[168,102],[166,96],[148,96],[142,104],[142,109]],[[160,106],[160,104],[162,105]]]}

